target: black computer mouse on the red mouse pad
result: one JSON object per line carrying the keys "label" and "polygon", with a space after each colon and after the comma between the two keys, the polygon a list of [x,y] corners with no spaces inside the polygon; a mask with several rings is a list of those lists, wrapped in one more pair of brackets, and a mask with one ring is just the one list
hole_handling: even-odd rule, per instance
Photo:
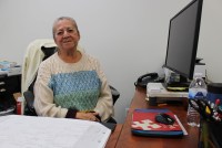
{"label": "black computer mouse on the red mouse pad", "polygon": [[155,115],[155,121],[165,125],[173,125],[175,119],[165,113],[160,113]]}

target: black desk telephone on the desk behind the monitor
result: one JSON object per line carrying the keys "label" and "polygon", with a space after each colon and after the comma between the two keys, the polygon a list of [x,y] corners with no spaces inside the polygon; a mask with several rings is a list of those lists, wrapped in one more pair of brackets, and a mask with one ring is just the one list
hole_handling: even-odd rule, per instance
{"label": "black desk telephone on the desk behind the monitor", "polygon": [[143,88],[147,88],[148,83],[158,83],[158,82],[164,82],[164,78],[159,77],[158,73],[147,73],[144,75],[141,75],[138,81],[134,83],[135,86],[141,86]]}

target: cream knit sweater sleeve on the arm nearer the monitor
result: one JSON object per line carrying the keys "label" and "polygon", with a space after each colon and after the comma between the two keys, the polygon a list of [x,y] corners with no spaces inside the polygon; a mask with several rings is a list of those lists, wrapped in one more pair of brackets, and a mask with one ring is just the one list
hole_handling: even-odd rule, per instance
{"label": "cream knit sweater sleeve on the arm nearer the monitor", "polygon": [[112,95],[111,95],[111,89],[109,87],[107,77],[100,67],[99,61],[97,61],[97,67],[98,67],[97,70],[98,75],[101,80],[101,92],[100,92],[100,97],[94,108],[94,112],[99,113],[102,121],[105,121],[111,116],[113,116]]}

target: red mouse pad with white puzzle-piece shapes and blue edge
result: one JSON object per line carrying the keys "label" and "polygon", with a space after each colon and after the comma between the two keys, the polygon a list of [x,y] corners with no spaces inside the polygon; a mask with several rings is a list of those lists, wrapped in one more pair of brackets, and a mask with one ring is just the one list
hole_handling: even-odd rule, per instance
{"label": "red mouse pad with white puzzle-piece shapes and blue edge", "polygon": [[[155,115],[165,113],[174,118],[173,125],[155,121]],[[132,114],[131,131],[139,136],[151,137],[181,137],[183,130],[178,118],[169,109],[134,109]]]}

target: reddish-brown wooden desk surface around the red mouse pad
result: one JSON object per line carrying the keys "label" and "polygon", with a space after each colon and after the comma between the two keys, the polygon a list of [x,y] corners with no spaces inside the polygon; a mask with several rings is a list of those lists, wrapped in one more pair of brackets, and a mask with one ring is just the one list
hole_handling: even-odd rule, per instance
{"label": "reddish-brown wooden desk surface around the red mouse pad", "polygon": [[168,105],[159,108],[171,109],[181,120],[189,134],[188,136],[183,136],[182,138],[154,138],[134,136],[131,134],[131,118],[133,109],[157,108],[157,106],[149,106],[148,102],[145,101],[145,89],[137,88],[128,116],[125,118],[125,123],[118,139],[117,148],[196,148],[199,140],[199,128],[188,126],[186,109],[182,105]]}

